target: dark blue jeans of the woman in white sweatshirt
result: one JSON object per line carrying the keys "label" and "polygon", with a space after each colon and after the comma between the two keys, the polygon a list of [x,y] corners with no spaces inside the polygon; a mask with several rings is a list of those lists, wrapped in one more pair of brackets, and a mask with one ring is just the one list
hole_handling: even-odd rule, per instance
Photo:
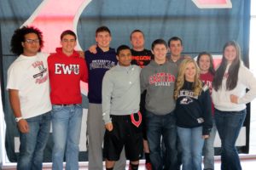
{"label": "dark blue jeans of the woman in white sweatshirt", "polygon": [[215,122],[221,140],[222,170],[241,170],[235,144],[246,115],[246,110],[218,111],[215,109]]}

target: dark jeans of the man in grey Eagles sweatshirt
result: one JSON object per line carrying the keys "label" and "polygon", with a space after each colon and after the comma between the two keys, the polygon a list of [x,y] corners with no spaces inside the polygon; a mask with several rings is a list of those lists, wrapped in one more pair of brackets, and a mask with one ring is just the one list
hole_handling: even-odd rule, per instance
{"label": "dark jeans of the man in grey Eagles sweatshirt", "polygon": [[[146,111],[147,137],[149,146],[149,157],[154,170],[177,169],[177,127],[176,118],[173,113],[164,116],[155,115]],[[166,160],[161,156],[161,137],[166,147]],[[163,165],[165,162],[165,165]]]}

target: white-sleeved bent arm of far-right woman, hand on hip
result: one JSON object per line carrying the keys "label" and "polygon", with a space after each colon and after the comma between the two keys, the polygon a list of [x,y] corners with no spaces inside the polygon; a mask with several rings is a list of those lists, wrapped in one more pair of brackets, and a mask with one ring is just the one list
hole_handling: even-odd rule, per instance
{"label": "white-sleeved bent arm of far-right woman, hand on hip", "polygon": [[253,75],[253,72],[249,71],[244,65],[241,66],[241,74],[238,74],[238,80],[245,84],[249,89],[247,94],[239,98],[235,94],[230,95],[230,101],[235,104],[247,104],[256,98],[256,77]]}

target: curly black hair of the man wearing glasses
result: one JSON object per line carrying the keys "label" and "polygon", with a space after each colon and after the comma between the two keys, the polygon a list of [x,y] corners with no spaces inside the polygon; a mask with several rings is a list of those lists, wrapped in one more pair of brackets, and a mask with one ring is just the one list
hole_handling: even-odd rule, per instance
{"label": "curly black hair of the man wearing glasses", "polygon": [[40,44],[40,48],[38,51],[40,52],[41,48],[44,47],[43,33],[38,28],[33,26],[22,26],[21,28],[18,28],[15,30],[15,33],[10,43],[10,46],[11,46],[10,51],[17,55],[22,54],[23,47],[21,45],[21,42],[25,41],[25,35],[29,33],[35,33],[38,35],[39,44]]}

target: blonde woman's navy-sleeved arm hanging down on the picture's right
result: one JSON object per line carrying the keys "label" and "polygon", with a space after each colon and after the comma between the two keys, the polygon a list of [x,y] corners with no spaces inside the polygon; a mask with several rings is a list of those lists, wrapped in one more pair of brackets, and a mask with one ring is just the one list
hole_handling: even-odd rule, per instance
{"label": "blonde woman's navy-sleeved arm hanging down on the picture's right", "polygon": [[210,90],[207,87],[207,85],[204,85],[203,91],[201,92],[202,102],[203,105],[202,111],[203,111],[203,132],[202,132],[202,138],[207,139],[209,138],[209,133],[212,130],[212,102],[211,102],[211,95]]}

